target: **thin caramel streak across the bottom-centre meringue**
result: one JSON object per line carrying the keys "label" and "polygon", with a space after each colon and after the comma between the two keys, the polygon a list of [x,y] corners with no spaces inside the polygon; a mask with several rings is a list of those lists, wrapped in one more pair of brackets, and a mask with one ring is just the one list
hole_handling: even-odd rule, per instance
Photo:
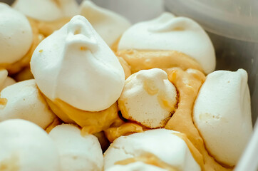
{"label": "thin caramel streak across the bottom-centre meringue", "polygon": [[160,160],[159,157],[157,157],[156,155],[154,155],[153,153],[150,153],[150,152],[145,152],[145,154],[140,155],[138,157],[120,160],[118,162],[115,162],[115,165],[128,165],[133,162],[144,162],[147,165],[153,165],[153,166],[165,169],[165,170],[178,171],[177,168],[172,167],[172,165],[168,165],[166,162],[163,162],[162,160]]}

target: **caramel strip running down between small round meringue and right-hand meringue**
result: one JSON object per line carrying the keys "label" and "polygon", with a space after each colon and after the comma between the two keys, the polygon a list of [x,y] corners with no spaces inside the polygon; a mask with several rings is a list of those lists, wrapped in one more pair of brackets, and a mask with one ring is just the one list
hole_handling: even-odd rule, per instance
{"label": "caramel strip running down between small round meringue and right-hand meringue", "polygon": [[192,108],[197,98],[197,93],[205,81],[205,75],[200,71],[182,71],[180,68],[167,69],[167,75],[171,83],[177,88],[180,98],[178,108],[172,118],[168,120],[165,128],[187,135],[187,138],[203,156],[204,166],[202,170],[232,170],[232,168],[223,167],[208,154],[205,143],[192,121]]}

